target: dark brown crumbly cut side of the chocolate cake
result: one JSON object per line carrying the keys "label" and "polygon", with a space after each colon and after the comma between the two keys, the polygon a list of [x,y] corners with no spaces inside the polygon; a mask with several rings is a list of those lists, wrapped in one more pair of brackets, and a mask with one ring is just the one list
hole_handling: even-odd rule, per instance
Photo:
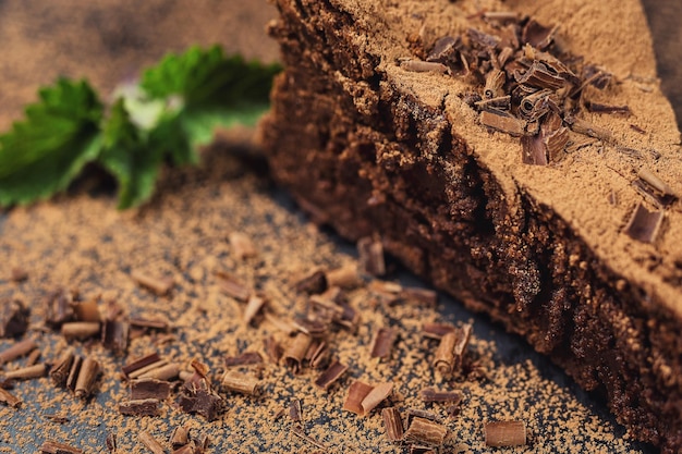
{"label": "dark brown crumbly cut side of the chocolate cake", "polygon": [[682,395],[666,380],[682,372],[679,320],[541,200],[522,192],[510,212],[456,134],[466,125],[375,71],[380,56],[346,39],[355,17],[304,3],[280,1],[271,29],[287,64],[263,127],[275,179],[316,222],[353,241],[379,235],[414,272],[604,392],[634,437],[679,452]]}

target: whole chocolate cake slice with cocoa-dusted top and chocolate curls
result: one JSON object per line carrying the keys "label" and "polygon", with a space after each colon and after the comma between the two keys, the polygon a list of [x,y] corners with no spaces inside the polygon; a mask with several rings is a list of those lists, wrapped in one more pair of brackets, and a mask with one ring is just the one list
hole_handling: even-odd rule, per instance
{"label": "whole chocolate cake slice with cocoa-dusted top and chocolate curls", "polygon": [[636,0],[277,0],[272,174],[682,449],[680,133]]}

